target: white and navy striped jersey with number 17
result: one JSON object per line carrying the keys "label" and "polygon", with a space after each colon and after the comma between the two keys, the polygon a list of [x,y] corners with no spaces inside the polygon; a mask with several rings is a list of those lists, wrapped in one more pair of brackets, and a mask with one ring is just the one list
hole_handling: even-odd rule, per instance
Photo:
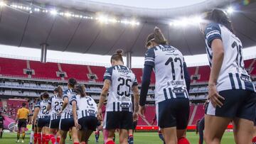
{"label": "white and navy striped jersey with number 17", "polygon": [[182,53],[171,45],[157,45],[147,50],[144,65],[154,67],[156,103],[166,99],[189,98],[183,62]]}

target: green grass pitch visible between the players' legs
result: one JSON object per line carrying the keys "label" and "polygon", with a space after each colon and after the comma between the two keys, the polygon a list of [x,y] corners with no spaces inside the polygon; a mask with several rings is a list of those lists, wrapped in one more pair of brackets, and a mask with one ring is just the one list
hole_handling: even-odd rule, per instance
{"label": "green grass pitch visible between the players' legs", "polygon": [[[116,133],[117,134],[117,133]],[[25,144],[29,143],[30,135],[26,135]],[[188,132],[187,138],[190,141],[191,144],[198,144],[198,135],[194,132]],[[118,138],[117,138],[118,140]],[[116,141],[117,141],[116,140]],[[17,144],[16,143],[16,133],[4,133],[3,138],[0,139],[0,144]],[[95,143],[95,135],[94,133],[90,137],[89,144]],[[224,144],[230,144],[235,143],[233,138],[232,132],[225,132],[223,135],[223,140],[221,143]],[[51,143],[50,143],[51,144]],[[69,138],[66,140],[66,144],[73,144],[70,142]],[[102,133],[100,133],[100,142],[99,144],[103,144],[102,142]],[[151,132],[151,133],[144,133],[144,132],[137,132],[134,133],[134,144],[162,144],[161,140],[159,139],[157,132]]]}

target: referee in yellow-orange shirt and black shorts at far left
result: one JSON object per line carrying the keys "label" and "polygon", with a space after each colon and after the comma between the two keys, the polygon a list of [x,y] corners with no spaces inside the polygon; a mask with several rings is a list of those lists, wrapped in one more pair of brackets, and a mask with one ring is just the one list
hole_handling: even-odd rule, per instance
{"label": "referee in yellow-orange shirt and black shorts at far left", "polygon": [[18,122],[17,143],[19,143],[21,131],[22,131],[21,143],[24,143],[25,128],[28,121],[28,115],[29,115],[29,110],[26,109],[26,104],[22,103],[22,108],[18,109],[17,116],[16,116],[16,123]]}

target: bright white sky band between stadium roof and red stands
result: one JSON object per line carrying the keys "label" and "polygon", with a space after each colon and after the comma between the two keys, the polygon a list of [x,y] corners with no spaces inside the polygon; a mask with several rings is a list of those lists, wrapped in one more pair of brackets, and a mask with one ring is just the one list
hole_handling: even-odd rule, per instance
{"label": "bright white sky band between stadium roof and red stands", "polygon": [[[245,60],[256,57],[256,46],[252,48],[244,48],[243,55]],[[8,45],[0,45],[0,57],[11,57],[23,60],[40,60],[41,50],[33,48],[18,48]],[[203,55],[185,55],[188,66],[208,65],[206,54]],[[90,55],[75,52],[59,52],[48,50],[48,62],[63,62],[81,65],[104,65],[110,66],[110,55]],[[126,62],[126,58],[124,57]],[[132,67],[143,67],[144,57],[132,57]]]}

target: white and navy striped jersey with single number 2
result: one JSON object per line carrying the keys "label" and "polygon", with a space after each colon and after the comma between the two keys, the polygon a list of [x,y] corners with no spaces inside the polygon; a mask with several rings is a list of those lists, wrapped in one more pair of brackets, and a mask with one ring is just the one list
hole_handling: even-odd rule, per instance
{"label": "white and navy striped jersey with single number 2", "polygon": [[75,101],[78,109],[78,119],[85,116],[97,117],[97,104],[90,96],[80,97],[80,95],[73,96],[70,104]]}

